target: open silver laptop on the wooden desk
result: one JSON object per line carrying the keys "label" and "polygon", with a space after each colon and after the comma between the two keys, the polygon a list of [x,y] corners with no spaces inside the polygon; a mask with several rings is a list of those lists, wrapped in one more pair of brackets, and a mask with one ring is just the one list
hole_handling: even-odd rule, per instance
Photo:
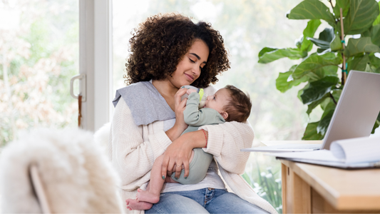
{"label": "open silver laptop on the wooden desk", "polygon": [[243,148],[247,152],[329,150],[333,141],[369,137],[380,112],[380,73],[350,71],[322,144]]}

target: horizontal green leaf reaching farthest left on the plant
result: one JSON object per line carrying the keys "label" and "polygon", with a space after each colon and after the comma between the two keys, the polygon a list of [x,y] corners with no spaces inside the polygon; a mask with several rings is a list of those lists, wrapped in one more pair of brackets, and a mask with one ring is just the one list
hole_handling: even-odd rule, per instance
{"label": "horizontal green leaf reaching farthest left on the plant", "polygon": [[307,56],[307,52],[299,51],[299,49],[264,48],[259,53],[259,63],[269,63],[283,57],[298,59],[305,56]]}

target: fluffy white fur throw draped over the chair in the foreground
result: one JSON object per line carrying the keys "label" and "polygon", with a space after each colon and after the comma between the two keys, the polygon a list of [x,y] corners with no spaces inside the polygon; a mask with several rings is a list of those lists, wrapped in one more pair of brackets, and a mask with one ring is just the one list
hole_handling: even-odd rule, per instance
{"label": "fluffy white fur throw draped over the chair in the foreground", "polygon": [[0,155],[2,213],[41,213],[29,178],[36,165],[52,213],[122,213],[119,178],[93,133],[39,129]]}

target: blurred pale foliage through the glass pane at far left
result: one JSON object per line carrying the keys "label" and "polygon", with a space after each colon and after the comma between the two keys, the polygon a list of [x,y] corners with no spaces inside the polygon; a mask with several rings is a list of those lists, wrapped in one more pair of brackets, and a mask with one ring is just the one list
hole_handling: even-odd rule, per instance
{"label": "blurred pale foliage through the glass pane at far left", "polygon": [[76,126],[78,1],[0,1],[0,147],[18,131]]}

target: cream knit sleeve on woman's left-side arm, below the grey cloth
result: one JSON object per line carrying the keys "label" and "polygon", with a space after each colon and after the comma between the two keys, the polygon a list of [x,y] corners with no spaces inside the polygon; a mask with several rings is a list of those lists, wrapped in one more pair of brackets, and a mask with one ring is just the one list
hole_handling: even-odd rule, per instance
{"label": "cream knit sleeve on woman's left-side arm, below the grey cloth", "polygon": [[[120,98],[111,123],[111,161],[121,178],[121,187],[133,190],[150,179],[155,158],[165,152],[171,141],[154,122],[148,126],[136,126],[128,105]],[[151,126],[149,128],[149,126]],[[154,129],[155,132],[148,129]],[[143,137],[145,133],[145,137]]]}

